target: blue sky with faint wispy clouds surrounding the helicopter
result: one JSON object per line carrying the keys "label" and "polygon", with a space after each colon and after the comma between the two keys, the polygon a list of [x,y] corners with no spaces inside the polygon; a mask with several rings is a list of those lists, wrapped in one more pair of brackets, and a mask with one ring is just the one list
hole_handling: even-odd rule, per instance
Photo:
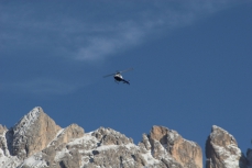
{"label": "blue sky with faint wispy clouds surrounding the helicopter", "polygon": [[[252,139],[252,1],[1,1],[0,124],[42,107],[59,126],[153,125],[200,145]],[[105,75],[122,74],[130,86]],[[205,163],[204,163],[205,164]]]}

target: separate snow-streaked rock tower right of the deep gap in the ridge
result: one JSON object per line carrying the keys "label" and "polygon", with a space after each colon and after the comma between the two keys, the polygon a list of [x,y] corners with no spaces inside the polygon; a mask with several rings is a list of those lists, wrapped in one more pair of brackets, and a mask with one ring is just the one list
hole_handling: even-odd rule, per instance
{"label": "separate snow-streaked rock tower right of the deep gap in the ridge", "polygon": [[246,168],[246,159],[235,138],[216,125],[206,143],[206,156],[207,168]]}

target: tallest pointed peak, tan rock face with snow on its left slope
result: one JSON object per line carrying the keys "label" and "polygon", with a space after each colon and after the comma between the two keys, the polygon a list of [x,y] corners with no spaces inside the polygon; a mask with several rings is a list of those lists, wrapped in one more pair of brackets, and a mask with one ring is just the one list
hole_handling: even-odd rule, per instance
{"label": "tallest pointed peak, tan rock face with snow on its left slope", "polygon": [[24,159],[44,149],[59,130],[61,127],[43,112],[42,108],[34,108],[11,130],[13,132],[11,155]]}

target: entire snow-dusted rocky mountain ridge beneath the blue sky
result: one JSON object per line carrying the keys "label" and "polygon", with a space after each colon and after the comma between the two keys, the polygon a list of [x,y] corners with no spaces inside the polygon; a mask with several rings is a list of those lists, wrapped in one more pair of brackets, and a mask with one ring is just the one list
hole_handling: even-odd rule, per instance
{"label": "entire snow-dusted rocky mountain ridge beneath the blue sky", "polygon": [[[252,168],[234,137],[212,126],[206,142],[207,168]],[[85,133],[77,124],[58,126],[36,107],[13,127],[0,125],[0,168],[202,168],[200,146],[176,131],[153,126],[135,145],[132,138],[100,127]]]}

